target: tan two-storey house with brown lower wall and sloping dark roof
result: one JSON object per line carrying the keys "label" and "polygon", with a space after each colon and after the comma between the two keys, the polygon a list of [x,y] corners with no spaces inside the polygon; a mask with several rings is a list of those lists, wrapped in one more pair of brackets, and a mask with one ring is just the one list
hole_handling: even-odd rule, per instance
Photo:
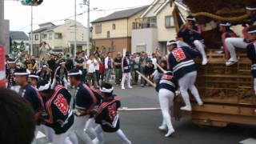
{"label": "tan two-storey house with brown lower wall and sloping dark roof", "polygon": [[133,22],[148,6],[114,12],[92,23],[92,44],[104,52],[131,50]]}

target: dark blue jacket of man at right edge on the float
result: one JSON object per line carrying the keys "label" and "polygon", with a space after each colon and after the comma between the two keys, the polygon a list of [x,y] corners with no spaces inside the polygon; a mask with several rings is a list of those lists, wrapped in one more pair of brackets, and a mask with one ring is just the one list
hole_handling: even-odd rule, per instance
{"label": "dark blue jacket of man at right edge on the float", "polygon": [[246,48],[247,57],[250,59],[252,63],[251,71],[254,78],[256,78],[256,50],[255,49],[256,49],[256,42],[250,43]]}

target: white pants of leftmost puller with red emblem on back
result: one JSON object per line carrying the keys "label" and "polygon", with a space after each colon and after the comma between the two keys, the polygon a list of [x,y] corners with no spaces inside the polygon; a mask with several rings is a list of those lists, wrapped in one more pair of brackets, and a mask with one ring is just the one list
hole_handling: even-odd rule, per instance
{"label": "white pants of leftmost puller with red emblem on back", "polygon": [[52,144],[73,144],[70,142],[68,135],[70,134],[70,130],[67,130],[66,133],[63,134],[55,134],[54,130],[48,126],[45,126],[46,136],[48,141],[52,142]]}

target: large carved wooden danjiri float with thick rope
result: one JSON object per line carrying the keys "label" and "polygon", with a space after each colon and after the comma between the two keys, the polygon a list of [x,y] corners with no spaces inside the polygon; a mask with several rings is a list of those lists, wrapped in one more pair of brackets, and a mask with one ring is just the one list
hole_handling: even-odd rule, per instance
{"label": "large carved wooden danjiri float with thick rope", "polygon": [[[218,22],[230,22],[241,25],[248,20],[245,7],[254,0],[183,0],[191,14],[198,19],[198,24],[207,26],[215,23],[212,30],[205,30],[202,35],[206,42],[206,53],[210,62],[206,66],[198,60],[197,87],[205,103],[197,106],[194,99],[192,112],[179,110],[182,98],[176,101],[176,117],[191,118],[202,126],[226,126],[229,123],[256,125],[256,96],[253,91],[253,78],[250,74],[250,60],[246,50],[237,50],[238,63],[225,65],[224,54],[218,54],[221,47],[221,35]],[[175,9],[174,9],[175,10]],[[174,11],[175,25],[178,26],[179,10]],[[177,27],[176,27],[177,28]]]}

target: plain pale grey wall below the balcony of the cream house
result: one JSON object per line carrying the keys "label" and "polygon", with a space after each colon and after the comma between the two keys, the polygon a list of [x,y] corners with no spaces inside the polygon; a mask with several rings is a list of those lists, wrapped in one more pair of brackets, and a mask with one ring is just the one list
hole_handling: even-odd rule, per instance
{"label": "plain pale grey wall below the balcony of the cream house", "polygon": [[[141,52],[142,47],[145,46],[145,50],[148,54],[152,54],[154,50],[158,48],[158,29],[138,29],[132,31],[132,53]],[[140,49],[138,50],[138,47]]]}

